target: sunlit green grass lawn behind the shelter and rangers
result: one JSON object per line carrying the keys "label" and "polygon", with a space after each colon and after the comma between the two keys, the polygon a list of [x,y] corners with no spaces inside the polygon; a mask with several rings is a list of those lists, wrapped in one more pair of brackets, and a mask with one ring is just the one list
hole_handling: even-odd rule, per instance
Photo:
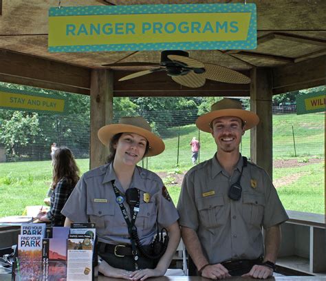
{"label": "sunlit green grass lawn behind the shelter and rangers", "polygon": [[[292,125],[296,142],[294,143]],[[198,137],[195,125],[170,128],[169,138],[164,138],[166,150],[159,156],[145,158],[140,166],[152,171],[167,173],[191,168],[191,147],[193,136]],[[285,209],[324,214],[325,211],[325,164],[309,163],[309,159],[325,159],[325,114],[295,114],[273,116],[273,155],[274,160],[296,160],[299,167],[274,168],[274,183],[278,183],[279,196]],[[172,137],[171,137],[172,136]],[[179,152],[177,149],[179,138]],[[211,158],[216,151],[212,136],[200,132],[201,161]],[[250,155],[250,134],[246,132],[241,144],[243,155]],[[178,167],[176,164],[178,162]],[[294,161],[295,162],[295,161]],[[78,159],[83,173],[89,169],[89,159]],[[26,205],[42,205],[51,183],[51,161],[0,163],[0,217],[22,214]],[[173,184],[173,174],[163,179],[173,202],[177,203],[180,185]]]}

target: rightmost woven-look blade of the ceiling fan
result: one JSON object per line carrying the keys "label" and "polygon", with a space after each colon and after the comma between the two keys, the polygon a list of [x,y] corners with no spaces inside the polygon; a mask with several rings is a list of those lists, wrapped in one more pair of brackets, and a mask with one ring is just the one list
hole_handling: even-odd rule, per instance
{"label": "rightmost woven-look blade of the ceiling fan", "polygon": [[212,63],[204,63],[204,65],[206,71],[199,75],[204,76],[206,79],[234,84],[250,83],[250,78],[248,76],[235,70],[230,70],[230,68]]}

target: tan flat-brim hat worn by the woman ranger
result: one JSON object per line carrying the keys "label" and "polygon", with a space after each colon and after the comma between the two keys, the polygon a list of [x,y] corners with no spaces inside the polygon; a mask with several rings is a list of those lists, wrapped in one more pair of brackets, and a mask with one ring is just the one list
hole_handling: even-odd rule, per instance
{"label": "tan flat-brim hat worn by the woman ranger", "polygon": [[155,156],[164,152],[165,145],[159,136],[153,134],[149,123],[142,116],[122,117],[117,124],[110,124],[98,130],[98,138],[103,145],[109,145],[111,138],[120,133],[134,133],[144,136],[149,142],[149,151],[146,157]]}

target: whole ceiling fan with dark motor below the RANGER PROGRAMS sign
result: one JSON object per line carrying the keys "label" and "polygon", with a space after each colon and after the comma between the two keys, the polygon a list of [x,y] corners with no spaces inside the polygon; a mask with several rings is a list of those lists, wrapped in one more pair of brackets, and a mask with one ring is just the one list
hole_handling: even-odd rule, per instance
{"label": "whole ceiling fan with dark motor below the RANGER PROGRAMS sign", "polygon": [[[113,63],[103,66],[128,66],[129,63]],[[150,70],[142,70],[119,79],[125,81],[153,72],[165,71],[171,79],[186,87],[202,87],[206,79],[224,83],[248,84],[250,78],[235,70],[213,63],[202,63],[189,57],[188,52],[173,50],[161,53],[161,63],[131,63],[130,65],[153,65]]]}

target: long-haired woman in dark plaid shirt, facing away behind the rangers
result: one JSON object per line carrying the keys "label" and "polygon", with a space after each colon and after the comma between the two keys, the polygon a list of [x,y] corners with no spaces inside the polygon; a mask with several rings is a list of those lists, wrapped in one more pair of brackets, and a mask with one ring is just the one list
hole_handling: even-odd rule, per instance
{"label": "long-haired woman in dark plaid shirt, facing away behind the rangers", "polygon": [[65,216],[61,214],[61,210],[78,180],[79,169],[72,152],[67,147],[57,148],[53,156],[50,211],[41,211],[36,218],[41,222],[51,222],[52,227],[63,227]]}

